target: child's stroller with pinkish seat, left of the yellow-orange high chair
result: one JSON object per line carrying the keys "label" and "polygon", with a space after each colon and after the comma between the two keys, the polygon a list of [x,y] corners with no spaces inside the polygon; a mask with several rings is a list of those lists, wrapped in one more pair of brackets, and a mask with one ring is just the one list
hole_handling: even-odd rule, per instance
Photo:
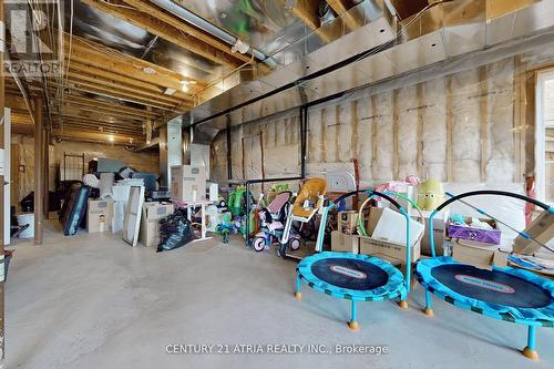
{"label": "child's stroller with pinkish seat, left of the yellow-orange high chair", "polygon": [[[285,221],[290,209],[290,191],[284,191],[275,196],[271,203],[259,211],[260,232],[256,234],[252,243],[256,252],[269,248],[273,243],[279,243],[285,229]],[[291,249],[300,247],[300,238],[290,235],[288,245]]]}

